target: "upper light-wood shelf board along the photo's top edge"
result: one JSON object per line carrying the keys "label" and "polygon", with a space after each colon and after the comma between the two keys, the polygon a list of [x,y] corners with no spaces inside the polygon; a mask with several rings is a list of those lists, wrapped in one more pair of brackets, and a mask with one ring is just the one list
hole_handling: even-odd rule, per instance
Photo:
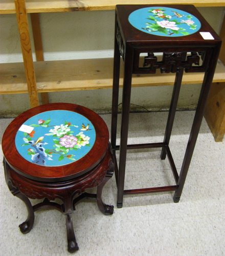
{"label": "upper light-wood shelf board along the photo's top edge", "polygon": [[[116,5],[120,4],[159,4],[158,0],[27,0],[27,12],[67,12],[67,11],[95,11],[95,10],[114,10]],[[181,0],[161,0],[160,4],[187,4]],[[189,0],[188,4],[193,4],[197,7],[216,7],[225,6],[224,0]],[[15,6],[12,0],[0,1],[0,14],[15,13]]]}

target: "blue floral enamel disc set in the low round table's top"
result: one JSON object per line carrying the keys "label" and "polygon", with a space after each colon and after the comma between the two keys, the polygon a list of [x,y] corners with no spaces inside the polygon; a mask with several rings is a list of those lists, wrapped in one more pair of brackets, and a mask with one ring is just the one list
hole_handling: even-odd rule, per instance
{"label": "blue floral enamel disc set in the low round table's top", "polygon": [[96,131],[85,116],[68,110],[39,113],[17,131],[15,145],[27,161],[42,166],[71,164],[93,147]]}

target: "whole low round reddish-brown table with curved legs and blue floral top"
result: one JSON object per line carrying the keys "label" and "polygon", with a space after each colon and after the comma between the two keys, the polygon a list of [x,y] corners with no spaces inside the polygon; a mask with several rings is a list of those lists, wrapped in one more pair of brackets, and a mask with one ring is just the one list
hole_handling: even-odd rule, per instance
{"label": "whole low round reddish-brown table with curved legs and blue floral top", "polygon": [[[101,199],[114,173],[108,129],[92,110],[67,103],[32,108],[7,127],[2,147],[6,183],[28,210],[27,220],[19,225],[22,233],[32,229],[36,210],[57,209],[66,216],[68,251],[75,252],[75,205],[84,198],[96,199],[103,214],[113,214],[114,207]],[[94,187],[96,194],[85,192]],[[44,200],[32,206],[29,198]],[[52,202],[56,198],[62,204]]]}

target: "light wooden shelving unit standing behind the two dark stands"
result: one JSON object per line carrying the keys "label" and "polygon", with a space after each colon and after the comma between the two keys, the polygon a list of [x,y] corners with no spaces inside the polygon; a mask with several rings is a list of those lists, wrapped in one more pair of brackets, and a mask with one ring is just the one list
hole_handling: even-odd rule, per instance
{"label": "light wooden shelving unit standing behind the two dark stands", "polygon": [[[114,10],[116,4],[137,4],[137,0],[0,0],[0,14],[16,13],[20,33],[20,43],[22,48],[23,63],[0,64],[0,94],[29,93],[31,107],[39,105],[38,93],[42,94],[42,103],[48,102],[47,92],[70,91],[70,90],[91,90],[105,89],[112,87],[113,81],[113,60],[112,59],[92,59],[75,61],[43,61],[43,51],[41,45],[41,33],[39,27],[39,16],[41,12],[67,12],[67,11],[95,11],[95,10]],[[138,4],[149,4],[148,0],[138,1]],[[152,0],[151,4],[159,4],[158,0]],[[162,0],[160,4],[186,4],[181,0]],[[224,7],[225,0],[190,0],[188,4],[196,7]],[[34,34],[34,44],[37,62],[33,62],[30,34],[27,21],[27,13],[31,13],[32,29]],[[224,19],[220,36],[224,38]],[[225,46],[224,42],[221,49],[220,60],[214,76],[214,83],[222,83],[219,92],[216,93],[220,104],[218,104],[215,93],[214,101],[210,101],[208,109],[218,112],[218,123],[208,118],[209,124],[215,139],[221,141],[225,132],[225,101],[223,99],[225,90]],[[223,64],[222,64],[223,63]],[[68,68],[70,67],[70,68]],[[78,69],[77,69],[78,67]],[[79,70],[78,73],[76,73]],[[185,74],[183,84],[201,83],[203,74]],[[148,76],[134,76],[133,86],[157,86],[172,85],[173,75],[167,74],[159,76],[155,74],[149,79]],[[122,84],[121,84],[122,85]],[[216,86],[215,84],[213,85]],[[221,96],[222,95],[222,96]],[[216,101],[216,102],[215,102]],[[211,106],[213,104],[213,106]],[[216,105],[217,107],[215,107]],[[220,107],[218,107],[218,105]],[[209,113],[209,111],[206,111]],[[211,115],[214,116],[213,113]],[[215,119],[215,118],[214,118]],[[220,134],[218,139],[215,134]],[[222,134],[222,135],[221,135]]]}

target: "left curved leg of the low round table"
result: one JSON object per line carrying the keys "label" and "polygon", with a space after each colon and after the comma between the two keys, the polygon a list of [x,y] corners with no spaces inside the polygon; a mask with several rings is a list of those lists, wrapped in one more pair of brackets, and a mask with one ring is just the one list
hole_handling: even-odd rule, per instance
{"label": "left curved leg of the low round table", "polygon": [[24,194],[22,194],[18,188],[14,188],[11,184],[11,182],[8,182],[8,187],[10,192],[15,195],[17,198],[21,199],[22,201],[24,201],[26,207],[27,207],[27,211],[28,211],[28,216],[27,216],[27,220],[23,223],[21,223],[19,225],[19,229],[23,234],[27,234],[31,231],[33,225],[34,225],[34,210],[33,207],[31,205],[30,200],[27,198],[27,196],[25,196]]}

